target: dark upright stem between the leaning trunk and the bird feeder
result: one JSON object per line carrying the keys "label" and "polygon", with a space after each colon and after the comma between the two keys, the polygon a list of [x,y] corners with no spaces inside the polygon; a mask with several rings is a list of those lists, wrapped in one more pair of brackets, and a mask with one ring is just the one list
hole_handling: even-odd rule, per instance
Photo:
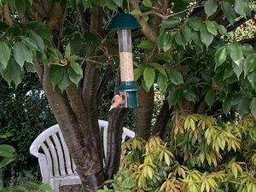
{"label": "dark upright stem between the leaning trunk and the bird feeder", "polygon": [[[85,20],[85,21],[84,21]],[[87,18],[81,15],[81,22],[86,22]],[[87,28],[83,28],[86,30]],[[84,31],[83,31],[84,32]],[[91,10],[90,16],[90,32],[102,32],[102,9],[94,8]],[[86,44],[86,55],[90,55],[93,47],[90,44]],[[97,106],[97,85],[99,79],[99,69],[96,68],[95,63],[90,61],[86,62],[84,70],[84,81],[82,86],[82,99],[85,108],[85,118],[88,122],[88,128],[90,131],[90,141],[93,146],[97,148],[97,154],[102,159],[102,142],[99,139],[101,137],[99,125],[98,125],[98,106]]]}

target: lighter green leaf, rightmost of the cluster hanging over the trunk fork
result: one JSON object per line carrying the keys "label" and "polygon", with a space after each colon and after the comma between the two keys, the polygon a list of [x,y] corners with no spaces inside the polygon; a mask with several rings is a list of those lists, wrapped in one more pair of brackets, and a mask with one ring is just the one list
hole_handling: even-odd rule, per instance
{"label": "lighter green leaf, rightmost of the cluster hanging over the trunk fork", "polygon": [[72,63],[67,68],[69,79],[79,87],[79,82],[83,78],[83,69],[79,66],[79,63]]}

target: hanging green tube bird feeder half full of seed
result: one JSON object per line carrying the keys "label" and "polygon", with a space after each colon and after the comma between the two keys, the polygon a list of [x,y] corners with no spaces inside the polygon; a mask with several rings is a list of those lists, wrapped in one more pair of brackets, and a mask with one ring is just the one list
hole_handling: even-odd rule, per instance
{"label": "hanging green tube bird feeder half full of seed", "polygon": [[123,96],[122,107],[137,108],[137,91],[134,82],[131,30],[141,28],[130,14],[114,15],[108,22],[106,30],[117,30],[119,38],[119,63],[121,84],[116,91]]}

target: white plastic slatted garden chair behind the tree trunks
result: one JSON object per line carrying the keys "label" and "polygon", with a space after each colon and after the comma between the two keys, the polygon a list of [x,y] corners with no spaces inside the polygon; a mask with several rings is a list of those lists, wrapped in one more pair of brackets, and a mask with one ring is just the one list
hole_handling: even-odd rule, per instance
{"label": "white plastic slatted garden chair behind the tree trunks", "polygon": [[[103,148],[106,155],[108,121],[99,120],[99,126],[103,129]],[[126,137],[135,137],[135,133],[124,127],[122,143]],[[55,192],[59,192],[63,185],[81,184],[59,125],[53,125],[38,135],[30,147],[30,153],[38,158],[43,183],[48,183]]]}

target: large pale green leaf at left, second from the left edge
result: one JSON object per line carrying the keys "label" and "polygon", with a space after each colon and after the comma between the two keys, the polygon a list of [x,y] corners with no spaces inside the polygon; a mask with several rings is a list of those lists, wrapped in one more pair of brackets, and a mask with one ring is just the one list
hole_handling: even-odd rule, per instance
{"label": "large pale green leaf at left, second from the left edge", "polygon": [[20,65],[21,68],[24,66],[24,62],[31,62],[32,61],[32,51],[30,49],[27,49],[26,45],[22,42],[17,42],[14,45],[14,55],[15,55],[15,61]]}

